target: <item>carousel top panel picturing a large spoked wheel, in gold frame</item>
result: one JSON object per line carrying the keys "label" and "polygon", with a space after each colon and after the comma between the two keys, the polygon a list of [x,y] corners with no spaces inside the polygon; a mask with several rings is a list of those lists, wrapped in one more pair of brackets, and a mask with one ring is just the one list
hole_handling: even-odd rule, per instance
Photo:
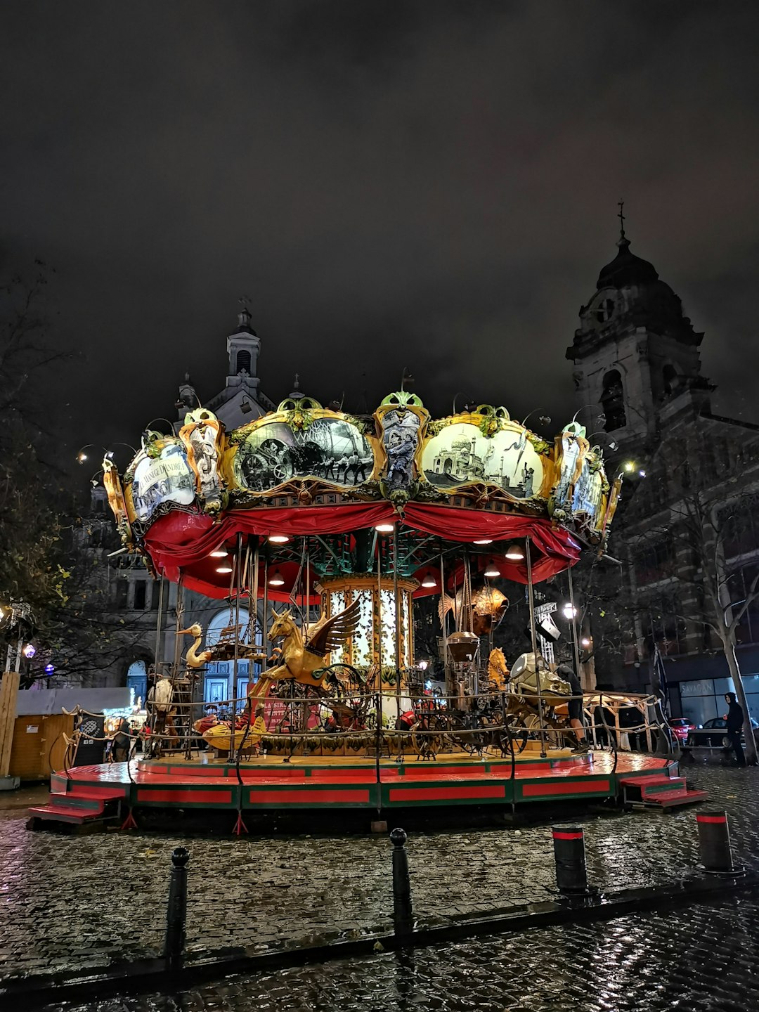
{"label": "carousel top panel picturing a large spoked wheel, in gold frame", "polygon": [[[287,405],[282,402],[277,415]],[[238,431],[233,441],[238,443],[235,481],[251,492],[267,492],[304,478],[354,488],[374,472],[371,443],[359,426],[308,398],[293,402],[284,418],[264,418]]]}

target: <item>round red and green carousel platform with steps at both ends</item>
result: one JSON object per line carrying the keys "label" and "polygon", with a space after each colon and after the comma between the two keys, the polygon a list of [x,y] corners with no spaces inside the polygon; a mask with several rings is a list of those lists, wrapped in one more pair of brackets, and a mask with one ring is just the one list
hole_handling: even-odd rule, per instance
{"label": "round red and green carousel platform with steps at both ends", "polygon": [[[242,782],[241,782],[242,781]],[[523,806],[538,802],[618,799],[649,808],[702,800],[689,790],[670,759],[634,752],[592,751],[573,756],[525,751],[446,754],[435,761],[373,758],[324,759],[264,756],[234,764],[182,758],[79,766],[51,778],[47,806],[30,809],[32,825],[83,825],[122,819],[140,810],[230,810],[234,812],[354,809],[377,811],[458,806]],[[255,820],[252,820],[254,822]],[[130,820],[130,825],[132,822]]]}

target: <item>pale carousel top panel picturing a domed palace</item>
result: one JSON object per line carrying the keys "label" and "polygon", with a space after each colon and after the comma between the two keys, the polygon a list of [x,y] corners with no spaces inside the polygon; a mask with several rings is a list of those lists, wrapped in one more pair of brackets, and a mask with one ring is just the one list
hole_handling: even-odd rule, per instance
{"label": "pale carousel top panel picturing a domed palace", "polygon": [[438,489],[480,484],[496,485],[514,499],[538,495],[543,463],[528,430],[491,412],[445,423],[422,450],[425,478]]}

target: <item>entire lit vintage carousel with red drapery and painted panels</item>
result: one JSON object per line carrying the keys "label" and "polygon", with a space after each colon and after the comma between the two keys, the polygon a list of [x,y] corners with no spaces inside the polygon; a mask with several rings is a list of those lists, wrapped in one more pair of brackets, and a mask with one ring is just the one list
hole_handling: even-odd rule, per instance
{"label": "entire lit vintage carousel with red drapery and painted panels", "polygon": [[[547,441],[501,407],[433,419],[404,390],[358,417],[289,399],[229,432],[198,408],[103,473],[123,550],[178,585],[175,660],[130,758],[76,766],[75,734],[36,818],[76,821],[88,792],[89,816],[116,804],[125,826],[148,809],[226,809],[238,833],[290,809],[381,823],[410,807],[687,793],[658,700],[583,691],[574,601],[574,663],[553,662],[535,586],[566,572],[572,595],[619,493],[577,421]],[[495,645],[510,588],[526,618],[515,657]],[[213,641],[184,621],[190,591],[229,608]],[[422,612],[436,656],[420,659]],[[231,689],[209,706],[201,676],[219,662]],[[630,708],[640,752],[619,724]]]}

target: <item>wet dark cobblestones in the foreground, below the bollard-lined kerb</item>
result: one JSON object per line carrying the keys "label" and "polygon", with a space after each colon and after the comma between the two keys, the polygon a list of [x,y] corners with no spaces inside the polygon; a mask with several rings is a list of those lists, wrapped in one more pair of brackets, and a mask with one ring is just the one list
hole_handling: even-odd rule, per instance
{"label": "wet dark cobblestones in the foreground, below the bollard-lined kerb", "polygon": [[731,903],[533,929],[62,1012],[756,1012],[758,913]]}

